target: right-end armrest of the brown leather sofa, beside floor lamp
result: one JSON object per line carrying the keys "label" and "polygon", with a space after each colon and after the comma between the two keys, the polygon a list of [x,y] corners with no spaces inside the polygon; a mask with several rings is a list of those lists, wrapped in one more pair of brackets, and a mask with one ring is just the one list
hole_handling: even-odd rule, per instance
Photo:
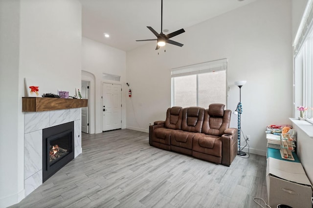
{"label": "right-end armrest of the brown leather sofa, beside floor lamp", "polygon": [[230,166],[238,151],[238,129],[227,128],[222,135],[222,164]]}

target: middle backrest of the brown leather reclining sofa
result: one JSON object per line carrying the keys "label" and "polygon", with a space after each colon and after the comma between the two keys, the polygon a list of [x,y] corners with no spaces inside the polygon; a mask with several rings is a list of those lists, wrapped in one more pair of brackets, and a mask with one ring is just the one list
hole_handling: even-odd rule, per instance
{"label": "middle backrest of the brown leather reclining sofa", "polygon": [[201,132],[205,109],[203,107],[186,107],[182,110],[181,130]]}

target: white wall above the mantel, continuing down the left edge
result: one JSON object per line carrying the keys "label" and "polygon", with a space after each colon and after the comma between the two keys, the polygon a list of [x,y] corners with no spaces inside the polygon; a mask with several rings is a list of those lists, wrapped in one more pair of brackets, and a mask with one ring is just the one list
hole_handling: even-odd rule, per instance
{"label": "white wall above the mantel, continuing down the left edge", "polygon": [[[0,1],[0,207],[24,198],[24,80],[41,93],[81,86],[78,0]],[[9,160],[7,160],[9,158]]]}

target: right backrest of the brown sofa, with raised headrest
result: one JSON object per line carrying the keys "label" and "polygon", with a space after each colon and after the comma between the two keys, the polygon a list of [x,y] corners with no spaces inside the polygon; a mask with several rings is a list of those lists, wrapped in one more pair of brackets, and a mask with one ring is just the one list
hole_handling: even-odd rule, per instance
{"label": "right backrest of the brown sofa, with raised headrest", "polygon": [[224,110],[224,104],[210,104],[205,109],[204,121],[201,132],[215,136],[224,134],[226,128],[229,128],[231,110]]}

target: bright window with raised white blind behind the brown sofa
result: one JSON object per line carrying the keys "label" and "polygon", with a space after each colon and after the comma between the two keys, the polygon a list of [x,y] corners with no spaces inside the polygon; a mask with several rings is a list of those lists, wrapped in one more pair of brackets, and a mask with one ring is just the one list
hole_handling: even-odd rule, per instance
{"label": "bright window with raised white blind behind the brown sofa", "polygon": [[172,106],[226,105],[227,60],[172,69]]}

